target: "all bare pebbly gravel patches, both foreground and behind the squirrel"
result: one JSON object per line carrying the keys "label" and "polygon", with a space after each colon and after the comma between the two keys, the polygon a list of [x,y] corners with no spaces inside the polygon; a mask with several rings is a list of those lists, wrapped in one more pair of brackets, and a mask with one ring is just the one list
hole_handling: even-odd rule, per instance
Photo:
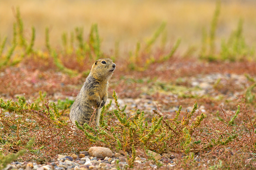
{"label": "all bare pebbly gravel patches, both foreground and behind the squirrel", "polygon": [[[187,81],[187,78],[182,78],[180,81]],[[230,82],[231,86],[226,87],[227,84]],[[210,75],[198,75],[197,77],[191,77],[189,78],[188,84],[189,88],[196,88],[197,90],[194,91],[184,91],[184,93],[197,95],[197,96],[204,96],[204,95],[211,95],[212,98],[218,98],[220,96],[224,96],[227,100],[233,100],[236,99],[239,95],[244,94],[244,90],[231,90],[225,91],[225,88],[239,88],[244,89],[249,86],[249,81],[246,79],[244,75],[235,75],[235,74],[210,74]],[[219,86],[219,89],[218,89]],[[140,98],[133,99],[133,98],[123,98],[118,99],[118,102],[120,104],[120,107],[124,107],[124,105],[127,105],[126,111],[131,110],[137,110],[141,109],[145,112],[152,112],[153,109],[157,109],[159,107],[158,101],[154,101],[152,99],[148,99],[148,95],[146,94],[146,91],[148,89],[145,89],[145,94],[142,94]],[[160,92],[161,93],[161,92]],[[168,94],[166,94],[168,93]],[[178,93],[172,93],[172,91],[164,92],[167,98],[164,98],[163,100],[169,101],[176,101],[178,98]],[[57,99],[61,96],[61,94],[55,94],[53,96]],[[67,96],[66,96],[67,97]],[[69,97],[69,99],[75,99],[74,97]],[[161,106],[161,105],[160,105]],[[115,108],[114,102],[111,105],[112,108]],[[164,108],[162,111],[165,112],[171,112],[174,110],[177,110],[178,106],[173,106],[171,108]],[[189,108],[188,108],[189,109]],[[201,105],[200,108],[201,111],[204,110],[204,106]],[[173,154],[165,154],[160,155],[159,161],[165,166],[166,168],[172,168],[176,165],[177,157]],[[207,162],[202,162],[202,158],[198,155],[195,157],[195,160],[198,162],[201,162],[203,164],[207,164]],[[136,164],[142,164],[142,167],[146,168],[157,168],[157,165],[152,160],[147,160],[144,157],[137,156],[135,159]],[[121,155],[119,153],[112,153],[112,156],[107,156],[104,158],[99,158],[97,156],[92,156],[88,152],[81,153],[80,155],[58,155],[58,159],[56,161],[45,163],[45,164],[38,164],[36,162],[12,162],[9,164],[5,169],[37,169],[37,170],[43,170],[43,169],[125,169],[129,165],[125,159],[124,155]]]}

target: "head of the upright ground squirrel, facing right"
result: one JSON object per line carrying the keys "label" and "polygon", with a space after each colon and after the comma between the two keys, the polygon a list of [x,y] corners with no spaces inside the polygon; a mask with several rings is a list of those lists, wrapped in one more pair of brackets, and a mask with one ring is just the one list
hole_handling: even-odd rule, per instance
{"label": "head of the upright ground squirrel, facing right", "polygon": [[115,63],[111,59],[99,59],[94,62],[91,76],[97,80],[108,80],[115,70]]}

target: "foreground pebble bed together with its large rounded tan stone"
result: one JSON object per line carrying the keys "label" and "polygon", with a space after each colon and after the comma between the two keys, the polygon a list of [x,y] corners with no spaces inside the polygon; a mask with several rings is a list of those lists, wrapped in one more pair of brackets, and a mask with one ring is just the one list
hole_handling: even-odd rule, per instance
{"label": "foreground pebble bed together with its large rounded tan stone", "polygon": [[[159,160],[167,167],[175,166],[176,163],[170,158],[175,158],[174,155],[163,155],[148,150],[156,160]],[[169,160],[168,160],[169,159]],[[157,168],[153,161],[148,162],[146,158],[137,156],[134,163],[148,163],[150,168]],[[72,154],[70,156],[58,154],[57,161],[47,164],[37,164],[36,162],[12,162],[4,170],[89,170],[89,169],[126,169],[129,164],[126,162],[125,156],[120,153],[112,153],[109,148],[91,147],[87,151],[81,151],[79,155]]]}

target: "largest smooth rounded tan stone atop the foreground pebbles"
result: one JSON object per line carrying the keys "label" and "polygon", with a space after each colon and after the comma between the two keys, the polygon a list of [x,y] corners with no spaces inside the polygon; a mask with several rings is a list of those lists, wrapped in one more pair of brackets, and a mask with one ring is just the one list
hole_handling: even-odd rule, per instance
{"label": "largest smooth rounded tan stone atop the foreground pebbles", "polygon": [[90,147],[88,152],[97,158],[112,157],[112,151],[106,147]]}

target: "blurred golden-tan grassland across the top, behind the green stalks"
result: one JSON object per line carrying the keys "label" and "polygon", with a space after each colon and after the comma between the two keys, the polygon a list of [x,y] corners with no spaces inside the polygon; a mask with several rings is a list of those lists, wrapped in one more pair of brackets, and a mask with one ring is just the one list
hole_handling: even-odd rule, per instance
{"label": "blurred golden-tan grassland across the top, behind the green stalks", "polygon": [[[147,41],[165,22],[166,29],[162,37],[166,37],[170,45],[180,38],[178,51],[182,54],[189,48],[199,50],[202,30],[209,30],[216,1],[1,0],[0,36],[2,39],[7,36],[9,44],[12,41],[14,10],[17,7],[20,8],[26,38],[30,38],[31,27],[35,27],[37,49],[45,48],[46,27],[50,31],[51,45],[59,47],[63,33],[70,35],[76,27],[82,27],[84,35],[88,36],[91,25],[98,24],[101,50],[109,53],[118,43],[122,55],[134,50],[138,41]],[[236,29],[239,19],[242,19],[246,43],[255,45],[255,9],[256,1],[221,1],[217,43],[227,38]]]}

